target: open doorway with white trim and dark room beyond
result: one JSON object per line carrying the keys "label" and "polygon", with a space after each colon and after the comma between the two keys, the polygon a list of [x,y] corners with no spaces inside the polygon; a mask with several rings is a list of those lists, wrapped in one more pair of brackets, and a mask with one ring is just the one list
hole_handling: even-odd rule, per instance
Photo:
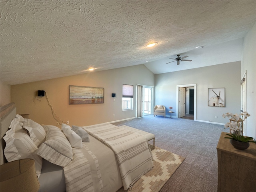
{"label": "open doorway with white trim and dark room beyond", "polygon": [[177,118],[196,120],[196,84],[177,85]]}

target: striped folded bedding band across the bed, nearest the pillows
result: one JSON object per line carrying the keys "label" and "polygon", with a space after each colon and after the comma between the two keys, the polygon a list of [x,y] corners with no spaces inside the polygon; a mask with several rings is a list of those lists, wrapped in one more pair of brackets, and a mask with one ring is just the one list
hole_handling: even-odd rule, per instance
{"label": "striped folded bedding band across the bed, nearest the pillows", "polygon": [[[63,168],[65,182],[66,182],[66,191],[67,192],[94,192],[99,191],[103,192],[102,178],[100,174],[100,167],[96,156],[86,147],[86,144],[83,143],[83,148],[77,149],[72,148],[73,150],[73,160]],[[90,168],[90,162],[84,156],[85,153],[88,153],[95,164],[96,174],[98,181],[94,181],[98,184],[98,188],[95,189],[93,185],[93,178]]]}

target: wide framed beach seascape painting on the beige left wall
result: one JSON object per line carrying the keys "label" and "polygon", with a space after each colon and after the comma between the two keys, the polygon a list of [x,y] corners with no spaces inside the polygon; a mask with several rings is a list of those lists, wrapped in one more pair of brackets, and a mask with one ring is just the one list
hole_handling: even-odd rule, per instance
{"label": "wide framed beach seascape painting on the beige left wall", "polygon": [[104,88],[69,86],[69,104],[104,103]]}

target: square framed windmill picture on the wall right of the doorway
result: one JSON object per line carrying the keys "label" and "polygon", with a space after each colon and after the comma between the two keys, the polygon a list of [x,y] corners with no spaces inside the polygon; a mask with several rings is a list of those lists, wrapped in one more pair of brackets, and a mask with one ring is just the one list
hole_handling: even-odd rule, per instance
{"label": "square framed windmill picture on the wall right of the doorway", "polygon": [[208,106],[225,107],[225,88],[208,88]]}

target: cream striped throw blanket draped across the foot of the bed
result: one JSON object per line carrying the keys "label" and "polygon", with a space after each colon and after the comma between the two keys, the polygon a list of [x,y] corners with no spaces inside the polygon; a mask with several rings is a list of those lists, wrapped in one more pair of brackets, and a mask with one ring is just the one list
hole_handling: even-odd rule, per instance
{"label": "cream striped throw blanket draped across the foot of the bed", "polygon": [[112,124],[83,128],[107,144],[116,154],[124,190],[152,169],[152,154],[144,136]]}

